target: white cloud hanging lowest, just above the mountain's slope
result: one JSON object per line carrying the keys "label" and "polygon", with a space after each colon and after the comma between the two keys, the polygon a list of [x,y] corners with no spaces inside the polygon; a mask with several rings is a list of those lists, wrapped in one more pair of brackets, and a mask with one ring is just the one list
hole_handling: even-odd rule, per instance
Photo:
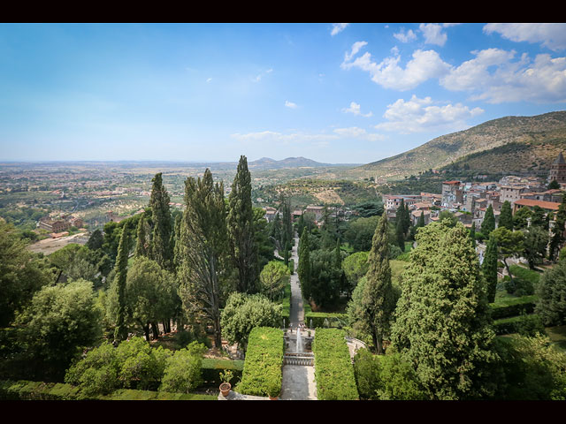
{"label": "white cloud hanging lowest, just above the mountain's slope", "polygon": [[431,97],[419,99],[413,95],[409,101],[399,99],[387,106],[383,117],[388,122],[375,125],[378,130],[395,133],[422,133],[427,131],[460,131],[468,128],[466,120],[482,114],[484,110],[470,110],[461,103],[442,104]]}

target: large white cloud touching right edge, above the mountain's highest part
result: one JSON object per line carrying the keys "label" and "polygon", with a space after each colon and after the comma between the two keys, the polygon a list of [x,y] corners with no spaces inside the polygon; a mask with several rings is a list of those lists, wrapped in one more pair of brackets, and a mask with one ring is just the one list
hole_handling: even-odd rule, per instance
{"label": "large white cloud touching right edge, above the mountain's highest part", "polygon": [[566,102],[566,57],[515,51],[472,51],[476,57],[453,68],[440,84],[453,91],[468,91],[472,100],[501,102]]}

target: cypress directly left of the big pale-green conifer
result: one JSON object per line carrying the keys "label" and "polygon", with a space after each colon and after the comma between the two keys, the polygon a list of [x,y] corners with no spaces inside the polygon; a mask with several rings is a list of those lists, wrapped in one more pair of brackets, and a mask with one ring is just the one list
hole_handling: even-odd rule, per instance
{"label": "cypress directly left of the big pale-green conifer", "polygon": [[373,234],[368,255],[368,273],[363,287],[363,320],[368,324],[373,345],[383,353],[383,340],[388,336],[395,308],[391,268],[389,267],[389,244],[387,243],[387,215],[383,213]]}

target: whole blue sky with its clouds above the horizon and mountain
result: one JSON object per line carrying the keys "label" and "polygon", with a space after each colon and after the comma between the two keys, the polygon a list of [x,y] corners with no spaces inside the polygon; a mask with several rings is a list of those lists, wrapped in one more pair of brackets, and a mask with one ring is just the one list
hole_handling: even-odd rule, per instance
{"label": "whole blue sky with its clouds above the horizon and mountain", "polygon": [[0,160],[370,163],[566,109],[566,24],[0,25]]}

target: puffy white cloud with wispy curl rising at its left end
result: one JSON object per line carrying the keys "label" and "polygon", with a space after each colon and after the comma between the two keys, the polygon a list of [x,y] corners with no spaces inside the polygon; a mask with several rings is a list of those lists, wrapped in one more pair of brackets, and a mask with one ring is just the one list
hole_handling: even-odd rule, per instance
{"label": "puffy white cloud with wispy curl rising at its left end", "polygon": [[[363,45],[367,44],[363,43]],[[368,52],[352,61],[360,48],[359,44],[355,43],[351,53],[345,55],[344,62],[340,66],[343,69],[357,67],[369,72],[372,81],[386,88],[409,90],[427,79],[440,78],[450,70],[450,65],[445,63],[434,50],[416,50],[403,69],[399,65],[401,57],[397,55],[398,50],[394,51],[394,56],[386,57],[379,64],[372,60]]]}

